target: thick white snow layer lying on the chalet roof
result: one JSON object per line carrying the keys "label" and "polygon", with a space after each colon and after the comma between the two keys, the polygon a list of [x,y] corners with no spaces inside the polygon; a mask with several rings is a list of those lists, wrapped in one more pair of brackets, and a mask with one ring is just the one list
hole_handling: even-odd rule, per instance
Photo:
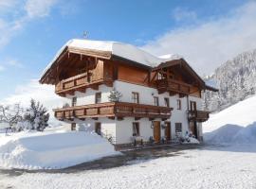
{"label": "thick white snow layer lying on the chalet roof", "polygon": [[49,70],[53,62],[57,60],[57,58],[61,55],[65,47],[77,47],[89,50],[108,51],[111,52],[112,55],[127,60],[133,60],[151,67],[155,67],[159,63],[168,60],[180,59],[180,56],[177,57],[176,55],[171,57],[170,55],[169,57],[155,57],[154,55],[138,48],[137,46],[127,43],[73,39],[65,43],[64,46],[58,51],[54,59],[51,60],[50,63],[46,66],[46,69],[44,70],[42,77],[46,74],[47,70]]}

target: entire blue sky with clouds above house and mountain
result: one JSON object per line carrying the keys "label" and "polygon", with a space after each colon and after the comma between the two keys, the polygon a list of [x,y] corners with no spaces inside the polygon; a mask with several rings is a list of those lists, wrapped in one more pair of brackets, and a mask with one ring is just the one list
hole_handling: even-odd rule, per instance
{"label": "entire blue sky with clouds above house and mountain", "polygon": [[255,34],[244,34],[255,26],[236,27],[236,19],[253,24],[254,10],[255,1],[242,0],[0,0],[0,99],[29,87],[58,49],[83,31],[89,39],[132,43],[155,55],[181,54],[201,75],[210,74],[256,47]]}

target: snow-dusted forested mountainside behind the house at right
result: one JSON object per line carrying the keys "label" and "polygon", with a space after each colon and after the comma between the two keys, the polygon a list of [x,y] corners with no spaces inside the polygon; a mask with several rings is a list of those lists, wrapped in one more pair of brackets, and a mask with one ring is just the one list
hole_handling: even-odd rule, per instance
{"label": "snow-dusted forested mountainside behind the house at right", "polygon": [[256,92],[256,49],[244,52],[204,77],[219,93],[206,92],[206,110],[221,111]]}

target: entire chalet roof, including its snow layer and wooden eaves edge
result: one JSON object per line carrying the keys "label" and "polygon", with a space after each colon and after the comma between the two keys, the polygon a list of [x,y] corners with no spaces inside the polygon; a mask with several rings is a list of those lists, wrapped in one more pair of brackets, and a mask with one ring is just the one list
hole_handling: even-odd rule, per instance
{"label": "entire chalet roof, including its snow layer and wooden eaves edge", "polygon": [[[182,65],[184,65],[184,67],[192,73],[193,77],[196,77],[203,86],[206,86],[204,80],[199,77],[193,71],[192,67],[187,63],[187,61],[179,55],[168,54],[155,57],[154,55],[132,44],[81,39],[73,39],[64,44],[64,46],[57,52],[53,60],[51,60],[46,66],[46,69],[42,73],[40,82],[42,82],[42,78],[47,76],[53,64],[58,62],[59,58],[61,58],[66,51],[82,53],[89,56],[97,55],[105,59],[129,60],[131,63],[135,63],[135,65],[144,65],[152,70],[182,63]],[[216,90],[210,86],[208,86],[208,89]]]}

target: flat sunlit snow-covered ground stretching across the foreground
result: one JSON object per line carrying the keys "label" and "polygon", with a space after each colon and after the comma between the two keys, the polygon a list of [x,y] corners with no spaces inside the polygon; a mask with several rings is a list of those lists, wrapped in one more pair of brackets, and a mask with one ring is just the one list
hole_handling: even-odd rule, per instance
{"label": "flat sunlit snow-covered ground stretching across the foreground", "polygon": [[[236,152],[236,149],[241,151]],[[1,175],[0,188],[256,188],[255,146],[208,147],[109,169]]]}

